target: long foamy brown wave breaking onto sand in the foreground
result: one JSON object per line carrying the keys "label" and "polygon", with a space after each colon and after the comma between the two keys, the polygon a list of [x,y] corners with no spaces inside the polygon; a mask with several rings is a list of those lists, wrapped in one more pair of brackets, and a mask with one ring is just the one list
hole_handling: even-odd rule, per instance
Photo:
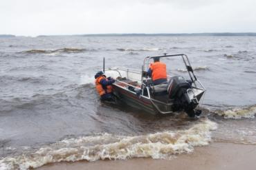
{"label": "long foamy brown wave breaking onto sand in the foreground", "polygon": [[[30,169],[61,161],[127,158],[168,159],[173,154],[190,153],[196,146],[208,145],[217,124],[205,119],[190,129],[163,131],[144,136],[86,136],[62,140],[35,153],[6,157],[0,169]],[[91,145],[90,145],[91,144]]]}

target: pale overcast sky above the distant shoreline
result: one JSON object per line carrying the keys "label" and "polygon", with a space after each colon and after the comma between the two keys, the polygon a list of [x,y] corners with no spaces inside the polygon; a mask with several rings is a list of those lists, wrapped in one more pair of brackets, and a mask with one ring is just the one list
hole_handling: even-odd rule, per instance
{"label": "pale overcast sky above the distant shoreline", "polygon": [[0,34],[256,32],[256,0],[1,0]]}

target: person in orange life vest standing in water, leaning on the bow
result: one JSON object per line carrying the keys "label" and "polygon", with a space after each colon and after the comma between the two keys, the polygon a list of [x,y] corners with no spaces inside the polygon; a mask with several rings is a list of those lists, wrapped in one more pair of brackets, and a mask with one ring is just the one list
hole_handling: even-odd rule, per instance
{"label": "person in orange life vest standing in water, leaning on the bow", "polygon": [[95,85],[98,93],[100,94],[100,100],[113,101],[112,84],[115,80],[111,77],[106,78],[102,71],[97,72],[94,76]]}

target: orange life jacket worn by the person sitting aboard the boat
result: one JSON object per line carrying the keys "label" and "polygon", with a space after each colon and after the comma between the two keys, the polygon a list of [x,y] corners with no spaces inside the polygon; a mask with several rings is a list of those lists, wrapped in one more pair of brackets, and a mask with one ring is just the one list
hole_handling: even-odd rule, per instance
{"label": "orange life jacket worn by the person sitting aboard the boat", "polygon": [[156,81],[161,78],[167,78],[166,65],[160,61],[150,64],[150,69],[152,70],[152,80]]}

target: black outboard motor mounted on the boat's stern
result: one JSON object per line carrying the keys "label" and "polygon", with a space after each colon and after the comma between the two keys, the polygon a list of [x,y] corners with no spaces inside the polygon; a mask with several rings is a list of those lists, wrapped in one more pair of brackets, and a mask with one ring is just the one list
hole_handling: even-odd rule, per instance
{"label": "black outboard motor mounted on the boat's stern", "polygon": [[201,111],[194,110],[199,102],[192,92],[192,82],[186,81],[182,76],[173,76],[168,83],[167,92],[169,98],[174,100],[174,111],[184,110],[190,117],[201,114]]}

